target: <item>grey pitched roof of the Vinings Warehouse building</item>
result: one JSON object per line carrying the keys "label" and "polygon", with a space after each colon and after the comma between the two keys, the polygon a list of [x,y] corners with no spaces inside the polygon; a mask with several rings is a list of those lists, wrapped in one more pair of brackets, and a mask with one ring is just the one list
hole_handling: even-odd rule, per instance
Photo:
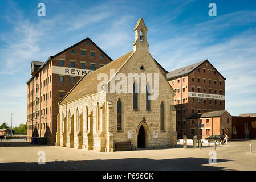
{"label": "grey pitched roof of the Vinings Warehouse building", "polygon": [[[185,76],[185,75],[188,75],[189,73],[193,72],[195,69],[197,69],[198,67],[200,67],[200,65],[202,65],[203,63],[205,63],[206,61],[208,61],[207,59],[206,60],[203,60],[203,61],[199,61],[197,63],[194,63],[194,64],[190,64],[186,67],[183,67],[183,68],[178,68],[178,69],[175,69],[174,71],[170,71],[168,74],[167,74],[167,80],[170,80],[172,78],[177,78],[177,77],[181,77],[181,76]],[[214,66],[208,61],[208,63],[214,68]],[[217,69],[214,68],[216,71]],[[217,71],[218,72],[218,71]],[[221,77],[223,77],[221,75],[220,72],[218,72],[220,74]],[[223,77],[224,78],[224,77]],[[224,80],[226,80],[226,78],[224,78]]]}

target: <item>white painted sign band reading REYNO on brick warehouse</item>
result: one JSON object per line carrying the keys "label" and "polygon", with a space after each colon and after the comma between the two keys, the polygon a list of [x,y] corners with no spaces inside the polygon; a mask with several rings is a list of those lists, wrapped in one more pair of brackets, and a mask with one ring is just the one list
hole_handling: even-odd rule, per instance
{"label": "white painted sign band reading REYNO on brick warehouse", "polygon": [[59,75],[83,76],[86,73],[90,74],[92,72],[94,71],[90,69],[78,69],[78,68],[52,66],[52,73],[59,74]]}

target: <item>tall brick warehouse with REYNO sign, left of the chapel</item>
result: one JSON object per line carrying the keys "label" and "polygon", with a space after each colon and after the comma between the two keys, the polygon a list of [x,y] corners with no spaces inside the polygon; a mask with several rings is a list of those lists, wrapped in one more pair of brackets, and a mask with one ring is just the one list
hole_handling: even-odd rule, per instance
{"label": "tall brick warehouse with REYNO sign, left of the chapel", "polygon": [[90,38],[45,62],[32,61],[32,77],[27,81],[27,139],[47,136],[48,144],[55,144],[58,102],[85,73],[111,61]]}

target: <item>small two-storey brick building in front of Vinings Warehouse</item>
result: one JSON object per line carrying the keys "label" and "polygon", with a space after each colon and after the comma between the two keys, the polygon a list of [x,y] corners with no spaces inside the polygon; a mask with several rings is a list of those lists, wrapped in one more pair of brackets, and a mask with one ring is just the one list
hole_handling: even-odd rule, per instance
{"label": "small two-storey brick building in front of Vinings Warehouse", "polygon": [[[191,126],[186,133],[188,138],[198,136],[199,132],[201,139],[210,137],[210,135],[224,134],[229,136],[229,140],[232,139],[232,117],[226,110],[196,113],[188,118],[188,122]],[[204,124],[204,127],[198,129],[198,126],[195,126],[197,124]]]}

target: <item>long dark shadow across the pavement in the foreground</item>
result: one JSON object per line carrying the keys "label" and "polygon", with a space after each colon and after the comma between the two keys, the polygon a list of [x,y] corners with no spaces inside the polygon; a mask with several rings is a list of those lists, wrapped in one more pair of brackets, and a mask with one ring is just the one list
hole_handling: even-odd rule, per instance
{"label": "long dark shadow across the pavement in the foreground", "polygon": [[[15,162],[0,163],[0,170],[108,170],[108,171],[137,171],[137,170],[202,170],[216,171],[225,170],[223,167],[203,166],[208,164],[208,158],[178,158],[154,160],[148,158],[125,158],[108,160],[80,160],[80,161],[52,161],[45,165],[39,165],[37,162]],[[217,159],[217,164],[230,160]]]}

